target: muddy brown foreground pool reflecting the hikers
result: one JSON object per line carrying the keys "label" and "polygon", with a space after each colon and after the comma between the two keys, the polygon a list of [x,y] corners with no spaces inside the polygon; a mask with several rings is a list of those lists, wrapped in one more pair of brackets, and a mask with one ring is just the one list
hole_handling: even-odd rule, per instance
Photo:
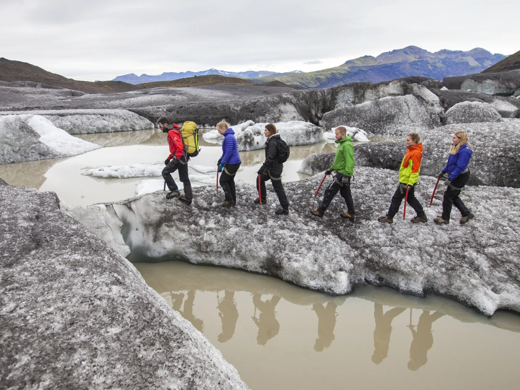
{"label": "muddy brown foreground pool reflecting the hikers", "polygon": [[331,297],[244,271],[134,263],[150,287],[267,389],[517,389],[520,316],[362,286]]}

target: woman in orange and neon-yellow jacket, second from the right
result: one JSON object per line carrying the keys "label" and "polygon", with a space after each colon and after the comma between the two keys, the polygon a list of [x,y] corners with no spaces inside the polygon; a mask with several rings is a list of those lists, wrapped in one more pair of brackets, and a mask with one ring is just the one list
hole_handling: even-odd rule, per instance
{"label": "woman in orange and neon-yellow jacket, second from the right", "polygon": [[408,204],[415,210],[415,217],[411,222],[427,222],[426,214],[421,206],[421,203],[415,198],[415,184],[419,181],[419,171],[421,170],[422,160],[422,144],[419,143],[421,136],[417,133],[410,133],[406,136],[406,146],[408,151],[402,159],[399,167],[399,187],[392,197],[390,208],[384,217],[378,218],[379,222],[387,222],[389,224],[394,222],[394,215],[399,211],[402,199],[406,195],[408,189]]}

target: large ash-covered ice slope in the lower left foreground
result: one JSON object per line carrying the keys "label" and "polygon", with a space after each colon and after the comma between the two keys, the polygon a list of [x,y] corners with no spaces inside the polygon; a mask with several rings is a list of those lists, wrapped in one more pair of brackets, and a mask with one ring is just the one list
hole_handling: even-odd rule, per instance
{"label": "large ash-covered ice slope in the lower left foreground", "polygon": [[[119,232],[113,207],[88,207],[99,223],[86,228],[55,193],[0,180],[2,387],[247,389],[222,353],[96,237]],[[80,209],[76,218],[87,214]]]}

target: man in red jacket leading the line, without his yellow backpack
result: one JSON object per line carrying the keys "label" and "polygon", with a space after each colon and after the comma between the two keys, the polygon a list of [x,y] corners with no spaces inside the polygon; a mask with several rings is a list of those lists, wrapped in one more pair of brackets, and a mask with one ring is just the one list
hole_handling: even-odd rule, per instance
{"label": "man in red jacket leading the line, without his yellow backpack", "polygon": [[[193,192],[191,191],[191,183],[188,177],[188,160],[189,157],[184,150],[183,137],[180,135],[180,127],[175,123],[168,125],[166,118],[159,120],[159,128],[163,133],[168,133],[168,146],[170,146],[170,155],[164,161],[166,165],[162,170],[164,181],[170,192],[166,195],[166,199],[179,198],[186,204],[191,204]],[[179,193],[179,189],[172,173],[179,171],[179,179],[184,184],[184,195]]]}

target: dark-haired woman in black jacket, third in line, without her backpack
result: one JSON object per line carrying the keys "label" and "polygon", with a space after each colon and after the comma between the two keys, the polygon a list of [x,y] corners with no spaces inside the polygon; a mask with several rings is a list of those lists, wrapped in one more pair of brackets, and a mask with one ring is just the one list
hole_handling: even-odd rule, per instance
{"label": "dark-haired woman in black jacket, third in line, without her backpack", "polygon": [[[265,126],[264,135],[267,137],[267,141],[265,142],[265,161],[258,170],[258,178],[256,179],[256,189],[258,190],[258,184],[260,186],[260,193],[262,196],[262,203],[266,204],[267,194],[265,189],[265,182],[267,180],[271,180],[272,188],[275,189],[276,194],[278,195],[278,200],[280,201],[281,209],[276,211],[277,215],[287,215],[289,214],[289,202],[287,201],[287,196],[285,195],[285,191],[282,186],[282,171],[283,164],[279,161],[279,143],[281,141],[280,135],[276,134],[276,126],[272,123],[269,123]],[[260,183],[258,183],[260,181]],[[255,203],[260,203],[260,198],[255,200]]]}

